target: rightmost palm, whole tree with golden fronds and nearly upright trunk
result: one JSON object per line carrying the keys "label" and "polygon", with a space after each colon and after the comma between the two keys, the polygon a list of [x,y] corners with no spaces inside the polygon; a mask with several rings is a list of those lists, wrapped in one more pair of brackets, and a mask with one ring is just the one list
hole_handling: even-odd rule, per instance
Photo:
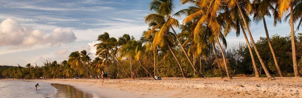
{"label": "rightmost palm, whole tree with golden fronds and nearly upright trunk", "polygon": [[279,18],[282,18],[283,14],[288,12],[288,10],[290,11],[290,14],[288,15],[288,17],[290,17],[289,23],[291,25],[291,49],[292,49],[295,77],[300,77],[300,75],[299,75],[299,70],[298,70],[298,65],[297,65],[296,46],[295,46],[294,8],[299,9],[301,7],[300,5],[301,5],[301,0],[278,0]]}

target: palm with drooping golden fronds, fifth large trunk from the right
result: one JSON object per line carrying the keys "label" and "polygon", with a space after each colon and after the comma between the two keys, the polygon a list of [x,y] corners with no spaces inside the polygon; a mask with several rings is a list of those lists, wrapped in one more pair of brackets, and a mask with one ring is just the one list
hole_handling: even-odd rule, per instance
{"label": "palm with drooping golden fronds, fifth large trunk from the right", "polygon": [[[205,27],[205,28],[210,29],[209,32],[211,33],[211,37],[209,37],[209,42],[217,43],[217,45],[221,51],[222,57],[223,57],[223,63],[225,65],[227,77],[231,79],[232,77],[228,71],[224,51],[223,51],[223,48],[219,41],[219,40],[221,40],[223,42],[223,44],[226,46],[225,38],[224,38],[223,34],[221,33],[221,31],[222,31],[221,22],[222,21],[221,21],[221,19],[219,19],[217,17],[217,13],[219,11],[218,9],[220,8],[221,3],[219,1],[216,1],[215,3],[214,2],[215,2],[215,0],[204,1],[204,2],[193,1],[193,0],[182,0],[181,1],[182,4],[191,3],[191,4],[194,4],[195,6],[197,6],[194,9],[194,11],[192,13],[189,13],[188,16],[183,20],[183,24],[193,21],[193,24],[195,24],[194,29],[193,29],[195,40],[198,40],[199,38],[201,38],[200,36],[198,36],[199,33],[208,33],[208,32],[203,32],[202,28]],[[184,10],[186,10],[188,13],[188,9],[184,9]],[[181,13],[181,14],[183,14],[183,13]]]}

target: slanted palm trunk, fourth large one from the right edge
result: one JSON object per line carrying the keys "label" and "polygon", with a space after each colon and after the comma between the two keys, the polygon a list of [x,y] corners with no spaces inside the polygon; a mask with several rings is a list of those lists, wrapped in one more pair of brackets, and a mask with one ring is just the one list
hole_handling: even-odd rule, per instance
{"label": "slanted palm trunk, fourth large one from the right edge", "polygon": [[259,75],[259,71],[258,71],[258,68],[257,68],[257,65],[256,65],[256,61],[254,59],[254,55],[253,55],[253,51],[252,51],[252,48],[251,48],[251,45],[249,44],[249,40],[247,39],[246,37],[246,33],[244,31],[244,28],[242,25],[240,25],[241,29],[242,29],[242,33],[243,33],[243,36],[244,38],[246,39],[246,45],[247,47],[249,48],[249,54],[251,55],[251,58],[252,58],[252,64],[253,64],[253,69],[254,69],[254,72],[255,72],[255,77],[260,77]]}

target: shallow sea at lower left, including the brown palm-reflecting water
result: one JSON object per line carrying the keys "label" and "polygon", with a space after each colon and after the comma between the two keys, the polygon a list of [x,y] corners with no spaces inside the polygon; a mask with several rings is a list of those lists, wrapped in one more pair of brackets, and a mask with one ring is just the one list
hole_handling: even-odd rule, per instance
{"label": "shallow sea at lower left, including the brown palm-reflecting water", "polygon": [[[35,85],[39,83],[40,87]],[[102,98],[73,86],[37,81],[0,80],[0,98]]]}

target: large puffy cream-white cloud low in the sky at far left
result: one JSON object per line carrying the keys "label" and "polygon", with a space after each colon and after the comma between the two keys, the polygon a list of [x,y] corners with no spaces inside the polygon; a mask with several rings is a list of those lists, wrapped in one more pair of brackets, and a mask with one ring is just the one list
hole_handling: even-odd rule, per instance
{"label": "large puffy cream-white cloud low in the sky at far left", "polygon": [[32,27],[22,27],[21,24],[7,18],[0,24],[0,47],[1,46],[22,46],[32,47],[37,44],[63,44],[76,40],[75,34],[70,29],[62,30],[56,28],[49,36],[40,30]]}

